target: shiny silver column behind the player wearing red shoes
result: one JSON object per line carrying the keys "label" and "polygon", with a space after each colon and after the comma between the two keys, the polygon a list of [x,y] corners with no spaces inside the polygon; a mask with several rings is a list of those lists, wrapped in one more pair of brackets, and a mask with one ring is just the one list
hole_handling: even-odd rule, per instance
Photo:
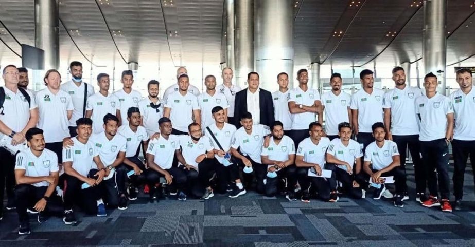
{"label": "shiny silver column behind the player wearing red shoes", "polygon": [[446,94],[447,0],[424,1],[423,59],[426,73],[437,75],[437,92]]}

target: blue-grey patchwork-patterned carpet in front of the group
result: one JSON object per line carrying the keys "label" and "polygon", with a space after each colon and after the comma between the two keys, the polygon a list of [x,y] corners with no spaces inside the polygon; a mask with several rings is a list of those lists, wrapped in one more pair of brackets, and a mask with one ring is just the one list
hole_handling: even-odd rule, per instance
{"label": "blue-grey patchwork-patterned carpet in front of the group", "polygon": [[[409,181],[414,181],[408,169]],[[17,234],[17,215],[0,221],[0,246],[475,246],[473,173],[465,176],[462,212],[443,213],[411,199],[403,208],[381,199],[337,203],[288,202],[248,193],[237,199],[224,195],[204,200],[146,196],[126,211],[108,211],[103,218],[76,213],[78,223],[59,218],[40,224],[31,217],[27,236]],[[370,193],[371,194],[371,193]]]}

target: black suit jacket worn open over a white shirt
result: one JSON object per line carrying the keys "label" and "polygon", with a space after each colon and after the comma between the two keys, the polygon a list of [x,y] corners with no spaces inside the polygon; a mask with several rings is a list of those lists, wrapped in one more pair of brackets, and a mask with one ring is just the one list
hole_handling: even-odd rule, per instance
{"label": "black suit jacket worn open over a white shirt", "polygon": [[[241,126],[241,124],[239,123],[241,115],[249,111],[247,97],[248,89],[245,88],[236,93],[236,97],[234,100],[234,125],[239,127]],[[274,102],[272,101],[271,92],[262,88],[260,88],[259,91],[259,109],[259,123],[270,127],[270,125],[274,122]]]}

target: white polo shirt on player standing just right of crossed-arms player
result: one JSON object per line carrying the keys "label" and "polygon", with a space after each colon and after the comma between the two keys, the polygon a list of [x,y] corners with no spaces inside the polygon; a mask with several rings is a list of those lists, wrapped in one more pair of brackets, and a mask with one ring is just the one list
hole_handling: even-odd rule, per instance
{"label": "white polo shirt on player standing just right of crossed-arms player", "polygon": [[322,95],[322,105],[325,107],[325,132],[327,135],[338,135],[338,125],[343,122],[349,123],[348,107],[351,104],[351,96],[346,92],[340,92],[338,96],[332,91]]}

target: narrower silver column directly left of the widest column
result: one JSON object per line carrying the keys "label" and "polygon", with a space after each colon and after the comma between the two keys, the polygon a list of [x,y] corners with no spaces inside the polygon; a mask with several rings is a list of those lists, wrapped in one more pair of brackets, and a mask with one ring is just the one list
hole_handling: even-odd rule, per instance
{"label": "narrower silver column directly left of the widest column", "polygon": [[254,71],[254,1],[234,3],[234,59],[237,85],[246,87],[248,73]]}

